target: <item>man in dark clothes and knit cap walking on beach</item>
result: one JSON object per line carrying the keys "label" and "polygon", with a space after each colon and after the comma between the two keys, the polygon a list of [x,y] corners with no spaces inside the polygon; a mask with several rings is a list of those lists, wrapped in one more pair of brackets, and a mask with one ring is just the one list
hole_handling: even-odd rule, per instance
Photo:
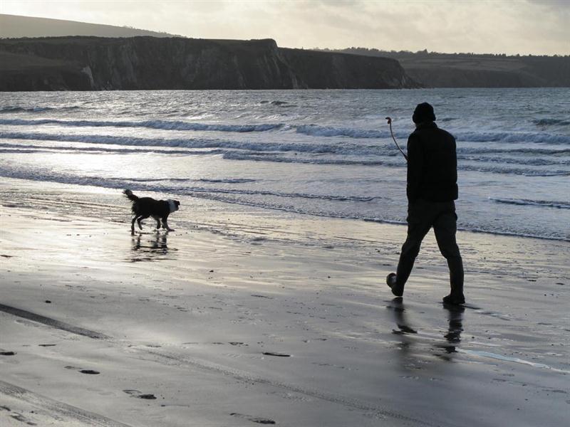
{"label": "man in dark clothes and knit cap walking on beach", "polygon": [[415,107],[415,131],[408,138],[408,238],[402,246],[398,269],[386,283],[397,297],[404,292],[423,238],[433,227],[437,246],[450,269],[450,295],[445,304],[465,302],[463,262],[455,241],[457,215],[457,154],[455,138],[435,125],[433,107],[427,102]]}

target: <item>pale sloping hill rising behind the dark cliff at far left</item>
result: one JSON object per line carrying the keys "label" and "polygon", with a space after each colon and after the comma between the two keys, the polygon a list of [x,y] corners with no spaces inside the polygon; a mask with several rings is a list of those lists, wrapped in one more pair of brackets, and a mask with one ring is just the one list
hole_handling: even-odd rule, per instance
{"label": "pale sloping hill rising behind the dark cliff at far left", "polygon": [[98,23],[0,14],[0,38],[59,36],[173,37],[174,35],[140,30],[138,28],[100,25]]}

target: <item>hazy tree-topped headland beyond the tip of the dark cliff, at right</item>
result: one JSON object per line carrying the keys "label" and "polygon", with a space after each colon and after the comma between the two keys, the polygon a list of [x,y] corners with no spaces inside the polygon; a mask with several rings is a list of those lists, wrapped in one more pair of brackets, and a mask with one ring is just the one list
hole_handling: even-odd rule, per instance
{"label": "hazy tree-topped headland beyond the tip of the dark cliff, at right", "polygon": [[411,78],[428,88],[570,87],[570,56],[413,53],[367,48],[331,52],[393,58]]}

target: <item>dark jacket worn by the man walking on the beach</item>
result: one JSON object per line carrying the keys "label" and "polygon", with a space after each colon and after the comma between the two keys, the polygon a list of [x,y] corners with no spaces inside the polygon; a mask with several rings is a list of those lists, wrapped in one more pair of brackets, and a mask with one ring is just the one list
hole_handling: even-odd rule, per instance
{"label": "dark jacket worn by the man walking on the beach", "polygon": [[434,122],[424,122],[408,137],[408,201],[457,199],[455,138]]}

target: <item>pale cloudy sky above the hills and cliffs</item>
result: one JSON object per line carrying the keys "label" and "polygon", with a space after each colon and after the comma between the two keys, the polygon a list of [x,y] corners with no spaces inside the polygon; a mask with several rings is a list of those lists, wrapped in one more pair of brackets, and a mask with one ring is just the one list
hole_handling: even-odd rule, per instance
{"label": "pale cloudy sky above the hills and cliffs", "polygon": [[288,48],[570,54],[570,0],[0,0],[0,14]]}

